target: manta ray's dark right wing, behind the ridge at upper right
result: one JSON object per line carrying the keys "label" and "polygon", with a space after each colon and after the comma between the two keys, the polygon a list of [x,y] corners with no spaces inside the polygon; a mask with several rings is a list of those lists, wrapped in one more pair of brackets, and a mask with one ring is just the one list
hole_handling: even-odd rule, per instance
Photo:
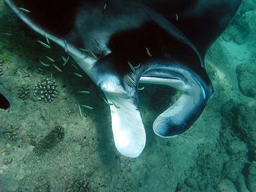
{"label": "manta ray's dark right wing, behind the ridge at upper right", "polygon": [[143,0],[143,3],[180,29],[204,57],[233,19],[241,0]]}

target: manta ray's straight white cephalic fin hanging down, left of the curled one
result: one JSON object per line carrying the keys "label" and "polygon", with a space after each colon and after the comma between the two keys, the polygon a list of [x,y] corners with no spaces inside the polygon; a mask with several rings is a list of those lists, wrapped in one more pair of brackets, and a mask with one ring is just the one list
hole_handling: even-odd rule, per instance
{"label": "manta ray's straight white cephalic fin hanging down, left of the curled one", "polygon": [[127,157],[138,157],[145,147],[146,135],[137,98],[121,92],[104,93],[110,105],[117,150]]}

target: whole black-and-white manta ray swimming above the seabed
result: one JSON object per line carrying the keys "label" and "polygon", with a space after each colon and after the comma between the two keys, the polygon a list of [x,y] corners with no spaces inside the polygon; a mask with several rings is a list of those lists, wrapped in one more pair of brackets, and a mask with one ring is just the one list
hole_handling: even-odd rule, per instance
{"label": "whole black-and-white manta ray swimming above the seabed", "polygon": [[138,157],[146,135],[138,84],[183,94],[154,121],[176,137],[213,96],[207,49],[227,28],[241,0],[5,0],[31,29],[61,46],[104,92],[117,150]]}

